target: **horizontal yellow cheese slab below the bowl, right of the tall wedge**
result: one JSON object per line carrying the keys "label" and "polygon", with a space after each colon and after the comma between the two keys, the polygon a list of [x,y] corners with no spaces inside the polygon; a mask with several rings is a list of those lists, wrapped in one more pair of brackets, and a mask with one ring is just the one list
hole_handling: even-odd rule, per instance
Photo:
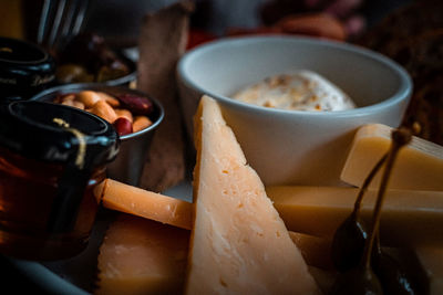
{"label": "horizontal yellow cheese slab below the bowl, right of the tall wedge", "polygon": [[[332,236],[349,217],[357,188],[267,187],[280,217],[291,231]],[[370,190],[362,202],[368,222],[377,191]],[[389,245],[443,244],[443,191],[388,190],[381,214],[381,239]]]}

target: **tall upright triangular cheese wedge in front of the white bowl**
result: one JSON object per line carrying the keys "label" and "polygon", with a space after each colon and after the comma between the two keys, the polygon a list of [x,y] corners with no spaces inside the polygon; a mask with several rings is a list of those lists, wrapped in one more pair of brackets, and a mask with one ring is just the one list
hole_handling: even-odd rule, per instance
{"label": "tall upright triangular cheese wedge in front of the white bowl", "polygon": [[264,185],[207,96],[195,130],[196,208],[186,294],[317,294]]}

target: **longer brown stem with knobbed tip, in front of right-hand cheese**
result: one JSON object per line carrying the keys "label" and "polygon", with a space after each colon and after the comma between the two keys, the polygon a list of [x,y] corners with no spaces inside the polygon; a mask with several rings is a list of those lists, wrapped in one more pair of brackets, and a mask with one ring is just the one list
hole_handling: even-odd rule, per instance
{"label": "longer brown stem with knobbed tip, in front of right-hand cheese", "polygon": [[381,209],[383,207],[384,196],[388,188],[388,183],[391,177],[392,167],[395,162],[395,158],[400,149],[408,145],[412,139],[412,133],[410,129],[401,127],[392,131],[392,145],[388,154],[387,166],[384,167],[383,177],[381,179],[379,193],[377,196],[375,208],[372,214],[372,226],[364,246],[363,262],[367,268],[371,267],[371,254],[374,243],[374,238],[378,234],[380,226]]}

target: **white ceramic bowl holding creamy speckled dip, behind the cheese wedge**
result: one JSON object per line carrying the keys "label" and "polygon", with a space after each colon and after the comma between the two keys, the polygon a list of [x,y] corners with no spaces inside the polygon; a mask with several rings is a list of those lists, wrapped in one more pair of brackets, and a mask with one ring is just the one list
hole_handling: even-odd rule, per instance
{"label": "white ceramic bowl holding creamy speckled dip, behind the cheese wedge", "polygon": [[[343,89],[358,108],[300,112],[265,108],[229,98],[239,88],[290,70],[311,70]],[[266,185],[340,185],[356,129],[398,126],[409,103],[408,73],[375,52],[296,36],[224,39],[186,53],[177,65],[186,128],[203,94],[222,106],[250,166]]]}

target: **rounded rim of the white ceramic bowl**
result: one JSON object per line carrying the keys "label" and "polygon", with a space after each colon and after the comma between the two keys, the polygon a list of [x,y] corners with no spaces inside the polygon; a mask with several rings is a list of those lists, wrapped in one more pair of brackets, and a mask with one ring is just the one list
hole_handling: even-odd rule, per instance
{"label": "rounded rim of the white ceramic bowl", "polygon": [[[271,40],[274,42],[296,42],[296,43],[305,43],[305,44],[323,45],[323,46],[334,48],[334,49],[339,49],[339,50],[353,52],[353,53],[363,55],[367,59],[374,60],[375,62],[384,64],[388,67],[390,67],[391,70],[393,70],[393,72],[399,76],[399,80],[400,80],[399,88],[391,97],[389,97],[382,102],[379,102],[379,103],[375,103],[372,105],[368,105],[368,106],[352,108],[352,109],[333,110],[333,112],[292,110],[292,109],[279,109],[279,108],[269,108],[269,107],[257,106],[257,105],[239,102],[239,101],[229,98],[227,96],[206,91],[203,87],[198,86],[186,74],[186,69],[187,69],[187,66],[189,66],[189,63],[192,62],[193,59],[195,59],[196,56],[198,56],[202,53],[213,50],[214,48],[248,44],[248,43],[261,43],[261,42],[269,42],[269,40]],[[408,72],[401,65],[399,65],[391,59],[387,57],[385,55],[382,55],[378,52],[371,51],[369,49],[364,49],[359,45],[352,45],[350,43],[318,39],[318,38],[309,38],[309,36],[293,36],[293,35],[256,36],[256,35],[253,35],[253,36],[223,38],[223,39],[219,39],[216,41],[205,43],[203,45],[199,45],[199,46],[186,52],[178,61],[177,75],[178,75],[178,78],[181,78],[182,82],[188,87],[190,86],[203,94],[206,94],[208,96],[219,99],[223,103],[233,105],[233,106],[241,108],[241,109],[249,109],[249,110],[255,110],[257,113],[262,113],[262,115],[265,115],[265,114],[269,115],[270,113],[274,113],[274,114],[281,114],[285,116],[288,116],[288,115],[291,116],[293,114],[297,114],[297,116],[327,116],[327,117],[348,117],[348,118],[349,117],[358,117],[358,116],[364,116],[368,114],[377,113],[380,109],[389,108],[393,105],[399,104],[401,101],[408,99],[412,94],[412,80],[411,80],[410,75],[408,74]]]}

